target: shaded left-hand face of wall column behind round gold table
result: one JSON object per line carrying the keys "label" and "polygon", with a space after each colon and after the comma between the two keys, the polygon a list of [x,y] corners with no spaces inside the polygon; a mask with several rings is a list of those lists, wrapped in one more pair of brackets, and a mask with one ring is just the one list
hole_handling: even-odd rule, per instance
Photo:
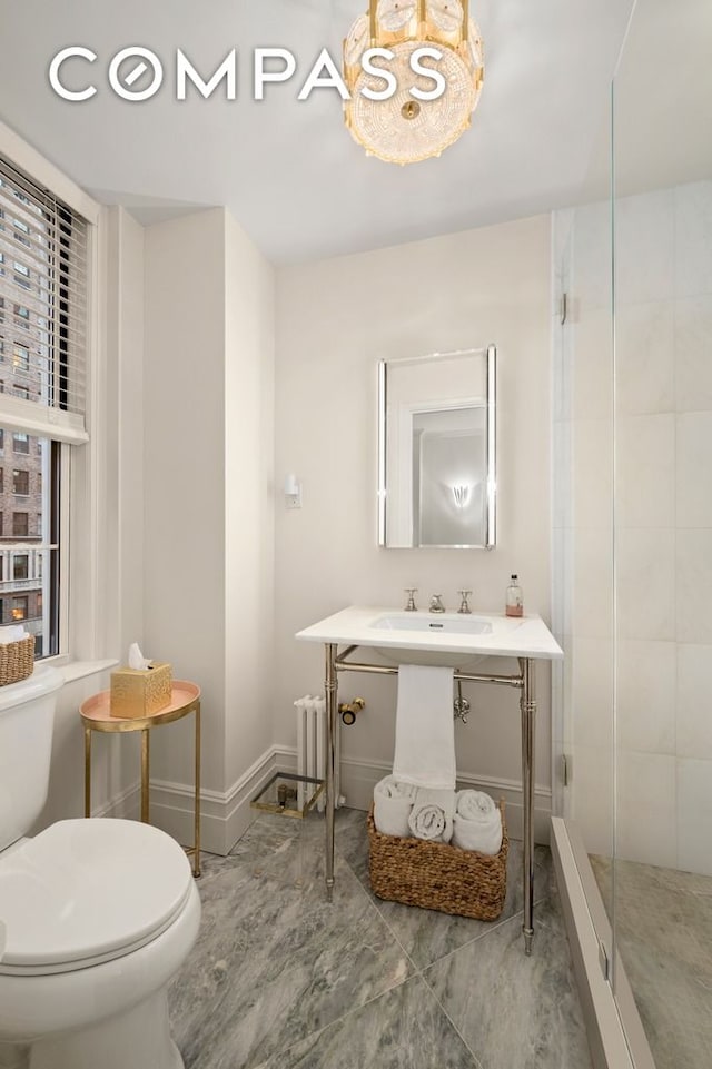
{"label": "shaded left-hand face of wall column behind round gold table", "polygon": [[[146,231],[145,654],[202,689],[202,776],[225,790],[225,212]],[[192,725],[154,739],[192,780]],[[156,733],[157,734],[157,733]]]}

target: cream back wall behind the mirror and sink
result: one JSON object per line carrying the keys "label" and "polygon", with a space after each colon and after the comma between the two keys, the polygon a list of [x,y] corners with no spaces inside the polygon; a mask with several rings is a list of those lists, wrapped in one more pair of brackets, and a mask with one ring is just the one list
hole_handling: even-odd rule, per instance
{"label": "cream back wall behind the mirror and sink", "polygon": [[[295,472],[304,507],[276,495],[275,741],[295,741],[293,702],[323,687],[323,652],[294,633],[348,604],[421,608],[441,592],[474,590],[476,608],[503,611],[511,572],[525,610],[550,611],[550,220],[537,217],[427,241],[291,267],[278,275],[276,481]],[[377,379],[380,358],[495,342],[500,358],[498,544],[486,551],[377,546]],[[536,781],[550,796],[550,670],[537,673]],[[343,731],[352,776],[393,755],[392,680],[344,676],[368,705]],[[477,686],[457,726],[462,772],[520,779],[515,692]]]}

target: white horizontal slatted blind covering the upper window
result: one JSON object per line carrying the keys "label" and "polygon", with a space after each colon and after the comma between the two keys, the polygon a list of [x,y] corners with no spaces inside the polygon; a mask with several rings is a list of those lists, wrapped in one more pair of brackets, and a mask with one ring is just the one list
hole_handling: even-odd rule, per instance
{"label": "white horizontal slatted blind covering the upper window", "polygon": [[0,158],[0,425],[86,442],[88,224]]}

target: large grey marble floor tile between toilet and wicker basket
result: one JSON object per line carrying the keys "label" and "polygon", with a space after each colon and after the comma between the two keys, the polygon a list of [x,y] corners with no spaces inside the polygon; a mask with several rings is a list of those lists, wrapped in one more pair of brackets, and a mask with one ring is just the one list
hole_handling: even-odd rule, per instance
{"label": "large grey marble floor tile between toilet and wicker basket", "polygon": [[198,944],[170,992],[187,1069],[249,1069],[413,971],[343,862],[333,904],[249,864],[221,867],[200,894]]}

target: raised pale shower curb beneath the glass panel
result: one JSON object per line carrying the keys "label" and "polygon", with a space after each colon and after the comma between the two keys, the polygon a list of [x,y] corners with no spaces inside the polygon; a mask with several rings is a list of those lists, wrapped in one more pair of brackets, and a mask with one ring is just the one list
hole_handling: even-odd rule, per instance
{"label": "raised pale shower curb beneath the glass panel", "polygon": [[611,926],[581,834],[552,820],[552,855],[594,1069],[655,1069],[625,969],[616,954],[616,998],[601,966]]}

